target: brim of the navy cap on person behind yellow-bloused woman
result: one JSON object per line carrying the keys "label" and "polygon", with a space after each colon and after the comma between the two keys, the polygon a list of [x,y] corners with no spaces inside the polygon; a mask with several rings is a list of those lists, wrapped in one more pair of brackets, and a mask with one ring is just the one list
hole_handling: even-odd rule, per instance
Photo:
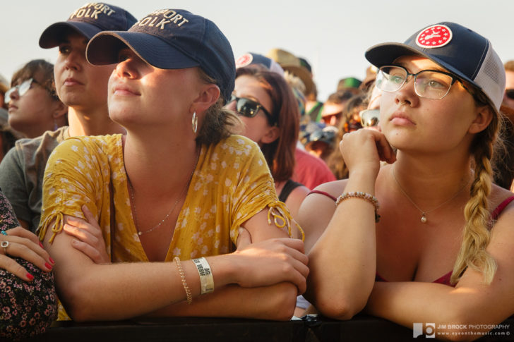
{"label": "brim of the navy cap on person behind yellow-bloused woman", "polygon": [[50,49],[52,47],[58,46],[64,38],[64,32],[68,30],[76,31],[86,37],[88,40],[98,32],[102,32],[102,29],[97,28],[95,25],[90,23],[62,21],[61,23],[54,23],[50,25],[46,30],[43,31],[40,37],[40,47],[43,49]]}

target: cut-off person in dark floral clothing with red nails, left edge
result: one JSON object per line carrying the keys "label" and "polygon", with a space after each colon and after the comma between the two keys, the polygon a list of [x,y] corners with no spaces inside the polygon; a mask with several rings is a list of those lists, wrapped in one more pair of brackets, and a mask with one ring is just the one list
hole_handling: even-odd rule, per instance
{"label": "cut-off person in dark floral clothing with red nails, left edge", "polygon": [[42,334],[54,322],[53,266],[37,236],[18,226],[0,191],[0,341]]}

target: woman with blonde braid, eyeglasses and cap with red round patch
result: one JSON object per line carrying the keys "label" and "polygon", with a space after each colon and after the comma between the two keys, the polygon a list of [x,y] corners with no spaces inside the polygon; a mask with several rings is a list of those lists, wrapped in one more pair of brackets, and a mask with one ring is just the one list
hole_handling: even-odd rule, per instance
{"label": "woman with blonde braid, eyeglasses and cap with red round patch", "polygon": [[328,317],[364,310],[411,329],[434,322],[440,338],[478,338],[514,313],[514,196],[491,183],[501,60],[489,40],[449,22],[366,59],[379,68],[381,132],[345,135],[348,180],[301,206],[299,223],[320,235],[306,298]]}

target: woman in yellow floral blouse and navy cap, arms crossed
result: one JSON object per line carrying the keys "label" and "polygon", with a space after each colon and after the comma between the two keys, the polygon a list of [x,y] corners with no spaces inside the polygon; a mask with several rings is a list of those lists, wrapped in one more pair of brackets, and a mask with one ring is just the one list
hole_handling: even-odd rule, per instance
{"label": "woman in yellow floral blouse and navy cap, arms crossed", "polygon": [[[235,67],[225,35],[163,9],[128,32],[100,33],[87,54],[95,65],[118,63],[109,115],[127,135],[70,138],[49,159],[40,238],[71,317],[289,319],[307,259],[301,240],[288,238],[295,227],[258,145],[230,134],[237,116],[222,106]],[[83,206],[111,262],[95,264],[62,231]]]}

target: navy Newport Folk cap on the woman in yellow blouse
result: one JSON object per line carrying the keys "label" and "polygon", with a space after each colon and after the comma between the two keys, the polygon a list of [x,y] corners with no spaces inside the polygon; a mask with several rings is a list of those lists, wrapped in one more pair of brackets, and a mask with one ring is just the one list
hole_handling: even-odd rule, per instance
{"label": "navy Newport Folk cap on the woman in yellow blouse", "polygon": [[90,40],[86,56],[95,65],[117,63],[124,47],[156,68],[200,67],[215,80],[225,102],[234,90],[232,47],[215,23],[202,16],[181,9],[154,11],[126,32],[98,33]]}

